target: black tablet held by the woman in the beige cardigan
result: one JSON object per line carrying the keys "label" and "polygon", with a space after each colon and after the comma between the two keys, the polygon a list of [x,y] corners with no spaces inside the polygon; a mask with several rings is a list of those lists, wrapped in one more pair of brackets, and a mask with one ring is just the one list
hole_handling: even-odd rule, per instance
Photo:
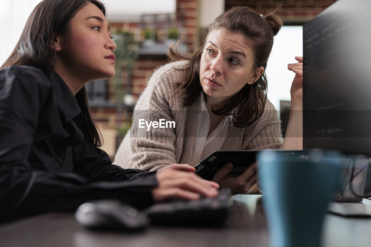
{"label": "black tablet held by the woman in the beige cardigan", "polygon": [[[256,154],[259,151],[215,151],[208,157],[204,158],[194,168],[195,173],[206,180],[212,180],[214,174],[227,162],[232,162],[233,168],[229,173],[234,176],[241,175],[246,168],[256,161]],[[286,155],[291,155],[293,158],[298,158],[302,155],[302,151],[277,151],[284,152]]]}

